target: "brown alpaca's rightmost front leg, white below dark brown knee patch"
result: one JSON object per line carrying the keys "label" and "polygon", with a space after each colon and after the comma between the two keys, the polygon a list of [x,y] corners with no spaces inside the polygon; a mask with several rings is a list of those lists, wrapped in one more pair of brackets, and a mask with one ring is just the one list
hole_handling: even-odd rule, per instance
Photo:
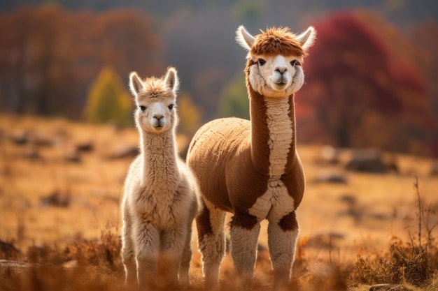
{"label": "brown alpaca's rightmost front leg, white below dark brown knee patch", "polygon": [[274,291],[287,290],[298,233],[295,211],[283,216],[279,222],[269,221],[268,246],[274,268]]}

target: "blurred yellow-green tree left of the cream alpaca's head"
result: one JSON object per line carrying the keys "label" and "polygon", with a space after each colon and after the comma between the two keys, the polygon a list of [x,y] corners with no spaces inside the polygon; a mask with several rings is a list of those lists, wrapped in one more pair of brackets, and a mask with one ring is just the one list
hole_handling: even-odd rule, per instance
{"label": "blurred yellow-green tree left of the cream alpaca's head", "polygon": [[90,87],[85,119],[92,123],[132,124],[132,102],[115,70],[105,67]]}

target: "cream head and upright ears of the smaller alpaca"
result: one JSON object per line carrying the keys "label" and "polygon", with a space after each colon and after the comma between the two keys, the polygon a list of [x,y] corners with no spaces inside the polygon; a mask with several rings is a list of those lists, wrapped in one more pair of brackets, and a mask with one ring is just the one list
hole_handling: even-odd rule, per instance
{"label": "cream head and upright ears of the smaller alpaca", "polygon": [[175,103],[178,76],[174,68],[167,70],[163,79],[144,82],[136,72],[129,75],[129,88],[135,97],[136,125],[151,133],[160,133],[176,124]]}

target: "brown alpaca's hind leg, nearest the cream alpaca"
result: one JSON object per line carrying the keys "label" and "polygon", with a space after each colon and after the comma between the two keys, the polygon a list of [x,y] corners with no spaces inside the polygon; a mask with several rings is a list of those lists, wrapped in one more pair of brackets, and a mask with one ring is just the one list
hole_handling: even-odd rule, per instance
{"label": "brown alpaca's hind leg, nearest the cream alpaca", "polygon": [[220,263],[225,255],[225,212],[216,207],[206,207],[196,217],[198,247],[202,255],[202,273],[207,290],[218,288]]}

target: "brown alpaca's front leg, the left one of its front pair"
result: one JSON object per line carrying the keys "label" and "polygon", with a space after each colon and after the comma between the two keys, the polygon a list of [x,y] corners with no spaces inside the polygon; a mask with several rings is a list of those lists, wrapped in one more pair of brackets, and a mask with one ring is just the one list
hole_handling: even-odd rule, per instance
{"label": "brown alpaca's front leg, the left one of its front pair", "polygon": [[249,289],[254,275],[260,223],[255,216],[235,214],[230,225],[231,258],[242,278],[243,288]]}

